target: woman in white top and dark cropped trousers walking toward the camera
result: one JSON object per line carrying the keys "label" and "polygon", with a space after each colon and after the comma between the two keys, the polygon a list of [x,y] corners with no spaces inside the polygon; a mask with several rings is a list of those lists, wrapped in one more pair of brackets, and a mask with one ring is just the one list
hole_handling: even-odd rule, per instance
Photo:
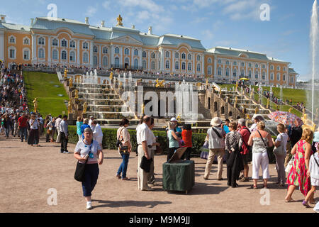
{"label": "woman in white top and dark cropped trousers walking toward the camera", "polygon": [[[86,209],[92,209],[91,192],[99,177],[99,165],[103,163],[103,152],[99,143],[93,140],[93,131],[91,128],[85,128],[83,135],[84,139],[77,142],[77,146],[74,150],[74,157],[79,160],[74,178],[77,180],[82,179]],[[84,172],[81,172],[82,176],[79,176],[79,167],[83,167],[83,165]]]}

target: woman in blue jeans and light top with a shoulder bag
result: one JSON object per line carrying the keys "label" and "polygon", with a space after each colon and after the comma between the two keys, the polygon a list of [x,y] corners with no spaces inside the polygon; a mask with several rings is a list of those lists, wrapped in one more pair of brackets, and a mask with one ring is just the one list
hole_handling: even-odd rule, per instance
{"label": "woman in blue jeans and light top with a shoulder bag", "polygon": [[[128,124],[130,122],[127,118],[123,118],[120,123],[120,128],[116,133],[118,138],[118,153],[120,153],[122,157],[122,163],[118,168],[118,172],[116,173],[116,177],[118,179],[129,180],[130,178],[126,177],[126,171],[128,170],[128,160],[130,158],[130,152],[132,150],[132,145],[130,143],[130,133],[128,133]],[[121,177],[122,174],[122,177]]]}

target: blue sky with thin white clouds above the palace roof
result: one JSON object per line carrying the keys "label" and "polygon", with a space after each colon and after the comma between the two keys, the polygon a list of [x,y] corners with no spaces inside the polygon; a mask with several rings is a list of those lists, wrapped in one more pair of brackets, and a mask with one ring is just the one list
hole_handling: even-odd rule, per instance
{"label": "blue sky with thin white clouds above the palace roof", "polygon": [[[174,33],[202,41],[205,48],[226,46],[263,52],[291,62],[299,79],[310,79],[310,16],[313,0],[101,0],[2,1],[0,13],[9,23],[30,24],[30,18],[47,16],[49,4],[57,5],[57,17],[98,26],[123,25],[156,35]],[[270,21],[260,20],[260,6],[270,6]]]}

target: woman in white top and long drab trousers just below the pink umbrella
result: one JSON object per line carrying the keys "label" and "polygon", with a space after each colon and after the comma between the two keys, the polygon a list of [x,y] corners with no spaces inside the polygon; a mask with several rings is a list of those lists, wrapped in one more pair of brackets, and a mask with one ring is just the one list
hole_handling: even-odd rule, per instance
{"label": "woman in white top and long drab trousers just below the pink umbrella", "polygon": [[276,141],[272,139],[272,143],[276,148],[282,146],[282,150],[284,150],[284,155],[275,155],[276,157],[276,170],[278,174],[277,184],[279,187],[285,187],[286,183],[286,172],[285,172],[285,158],[286,158],[286,147],[288,141],[288,134],[286,133],[286,128],[282,123],[279,123],[277,126],[277,131],[279,134],[277,135]]}

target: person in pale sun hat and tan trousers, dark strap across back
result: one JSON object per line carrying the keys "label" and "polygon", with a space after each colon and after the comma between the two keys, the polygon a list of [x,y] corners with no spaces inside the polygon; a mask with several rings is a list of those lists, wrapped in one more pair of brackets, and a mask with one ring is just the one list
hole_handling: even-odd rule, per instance
{"label": "person in pale sun hat and tan trousers, dark strap across back", "polygon": [[218,180],[222,180],[223,156],[225,154],[225,131],[221,128],[223,121],[216,117],[211,120],[212,128],[207,131],[209,154],[206,162],[204,179],[208,179],[211,172],[211,165],[216,155],[218,155]]}

